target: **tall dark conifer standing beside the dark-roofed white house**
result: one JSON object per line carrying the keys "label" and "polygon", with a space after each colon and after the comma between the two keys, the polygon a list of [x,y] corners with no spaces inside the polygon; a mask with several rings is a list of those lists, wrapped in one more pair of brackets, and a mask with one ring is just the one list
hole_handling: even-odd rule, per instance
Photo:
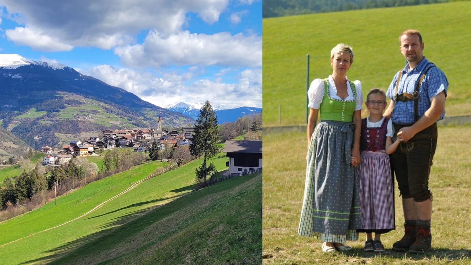
{"label": "tall dark conifer standing beside the dark-roofed white house", "polygon": [[206,101],[200,110],[200,116],[196,119],[195,134],[190,144],[190,153],[195,156],[204,156],[202,167],[196,169],[196,177],[203,178],[203,184],[206,185],[206,176],[209,175],[209,168],[206,161],[219,152],[215,145],[219,141],[218,118],[214,113],[211,103]]}

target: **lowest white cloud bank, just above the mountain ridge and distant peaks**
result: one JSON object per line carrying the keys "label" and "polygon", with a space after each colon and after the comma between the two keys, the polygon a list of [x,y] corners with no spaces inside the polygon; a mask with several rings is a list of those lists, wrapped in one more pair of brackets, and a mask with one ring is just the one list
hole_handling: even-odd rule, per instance
{"label": "lowest white cloud bank, just above the mountain ridge and distant peaks", "polygon": [[[166,72],[162,73],[162,77],[157,77],[151,72],[115,68],[110,65],[98,65],[83,73],[162,107],[179,101],[202,103],[206,100],[226,108],[261,107],[262,104],[260,68],[242,71],[235,84],[223,83],[221,78],[198,80],[191,72]],[[195,81],[191,81],[191,77],[191,80]]]}

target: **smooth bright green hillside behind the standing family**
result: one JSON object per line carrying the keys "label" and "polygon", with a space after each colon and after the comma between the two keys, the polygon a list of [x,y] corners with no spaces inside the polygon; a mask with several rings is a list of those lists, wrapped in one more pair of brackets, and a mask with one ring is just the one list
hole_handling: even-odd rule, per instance
{"label": "smooth bright green hillside behind the standing family", "polygon": [[330,50],[340,42],[355,51],[348,77],[364,92],[387,89],[404,67],[398,37],[408,28],[421,31],[424,55],[447,75],[447,116],[470,115],[471,81],[463,76],[471,68],[470,24],[470,1],[263,19],[264,125],[305,123],[306,54],[310,83],[332,73]]}

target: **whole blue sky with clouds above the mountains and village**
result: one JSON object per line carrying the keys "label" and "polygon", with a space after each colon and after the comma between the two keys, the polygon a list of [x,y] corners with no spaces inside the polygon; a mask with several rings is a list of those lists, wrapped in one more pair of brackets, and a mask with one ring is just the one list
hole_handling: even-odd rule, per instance
{"label": "whole blue sky with clouds above the mountains and village", "polygon": [[0,10],[2,54],[65,64],[158,106],[261,107],[261,0],[2,0]]}

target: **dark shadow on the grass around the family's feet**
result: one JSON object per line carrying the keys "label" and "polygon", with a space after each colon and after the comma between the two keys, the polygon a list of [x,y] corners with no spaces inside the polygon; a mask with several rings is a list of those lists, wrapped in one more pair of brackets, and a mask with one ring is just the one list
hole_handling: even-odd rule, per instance
{"label": "dark shadow on the grass around the family's feet", "polygon": [[352,248],[349,251],[342,251],[342,254],[350,257],[393,257],[393,258],[412,258],[414,260],[422,260],[424,258],[439,258],[444,260],[457,260],[471,257],[470,249],[446,249],[446,248],[432,248],[426,253],[413,254],[409,252],[397,252],[391,249],[386,249],[383,253],[365,252],[363,248]]}

